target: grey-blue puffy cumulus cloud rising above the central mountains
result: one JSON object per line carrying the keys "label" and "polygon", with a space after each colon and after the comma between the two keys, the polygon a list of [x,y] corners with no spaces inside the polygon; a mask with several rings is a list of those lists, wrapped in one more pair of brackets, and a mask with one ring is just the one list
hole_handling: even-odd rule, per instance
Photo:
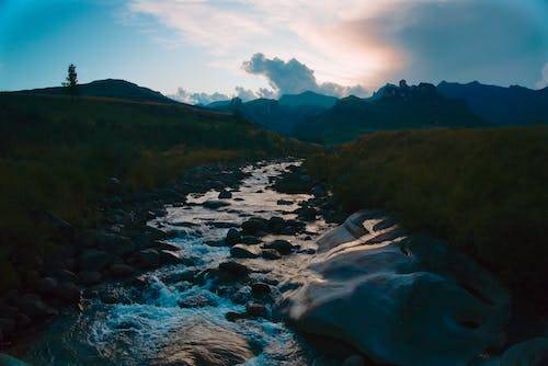
{"label": "grey-blue puffy cumulus cloud rising above the central mountains", "polygon": [[242,68],[252,75],[264,76],[277,95],[297,94],[313,91],[333,96],[355,94],[365,96],[367,91],[361,85],[345,87],[333,82],[318,82],[312,69],[297,59],[284,61],[277,57],[266,58],[263,54],[254,54]]}

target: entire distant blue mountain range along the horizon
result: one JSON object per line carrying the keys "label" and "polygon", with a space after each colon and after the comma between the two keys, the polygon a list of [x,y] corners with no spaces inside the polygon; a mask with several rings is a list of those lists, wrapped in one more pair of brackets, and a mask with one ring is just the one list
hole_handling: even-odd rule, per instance
{"label": "entire distant blue mountain range along the horizon", "polygon": [[279,100],[239,99],[215,102],[209,108],[233,112],[264,128],[327,145],[386,129],[481,127],[548,123],[548,89],[442,82],[387,84],[361,99],[313,92]]}

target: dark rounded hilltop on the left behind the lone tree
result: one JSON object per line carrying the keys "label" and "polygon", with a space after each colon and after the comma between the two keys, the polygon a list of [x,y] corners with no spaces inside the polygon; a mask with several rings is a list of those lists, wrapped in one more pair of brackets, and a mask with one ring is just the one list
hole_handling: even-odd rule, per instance
{"label": "dark rounded hilltop on the left behind the lone tree", "polygon": [[[168,103],[180,104],[160,92],[148,88],[139,87],[133,82],[105,79],[96,80],[77,87],[79,96],[114,98],[135,102]],[[39,94],[39,95],[67,95],[67,89],[64,87],[21,90],[13,93]]]}

